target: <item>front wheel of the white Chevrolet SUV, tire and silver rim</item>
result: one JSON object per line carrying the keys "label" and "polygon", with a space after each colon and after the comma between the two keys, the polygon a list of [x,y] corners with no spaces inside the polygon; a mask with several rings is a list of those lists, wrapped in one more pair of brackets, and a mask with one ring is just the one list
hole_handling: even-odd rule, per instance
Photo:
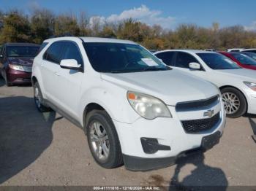
{"label": "front wheel of the white Chevrolet SUV, tire and silver rim", "polygon": [[120,142],[108,113],[93,110],[86,118],[87,139],[94,160],[103,168],[116,168],[122,165]]}

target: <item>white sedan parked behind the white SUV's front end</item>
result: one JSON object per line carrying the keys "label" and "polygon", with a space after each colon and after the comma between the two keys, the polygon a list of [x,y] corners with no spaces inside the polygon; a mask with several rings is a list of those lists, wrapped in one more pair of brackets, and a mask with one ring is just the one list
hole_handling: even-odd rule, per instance
{"label": "white sedan parked behind the white SUV's front end", "polygon": [[227,117],[256,114],[256,71],[241,69],[225,55],[203,50],[155,52],[168,66],[206,79],[222,93]]}

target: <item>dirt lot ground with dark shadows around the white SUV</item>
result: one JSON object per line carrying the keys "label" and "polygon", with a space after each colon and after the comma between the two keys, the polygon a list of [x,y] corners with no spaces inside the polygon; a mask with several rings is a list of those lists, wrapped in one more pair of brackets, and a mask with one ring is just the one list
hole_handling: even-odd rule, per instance
{"label": "dirt lot ground with dark shadows around the white SUV", "polygon": [[99,167],[83,130],[37,112],[31,87],[0,80],[1,185],[256,185],[256,116],[227,119],[221,142],[157,171]]}

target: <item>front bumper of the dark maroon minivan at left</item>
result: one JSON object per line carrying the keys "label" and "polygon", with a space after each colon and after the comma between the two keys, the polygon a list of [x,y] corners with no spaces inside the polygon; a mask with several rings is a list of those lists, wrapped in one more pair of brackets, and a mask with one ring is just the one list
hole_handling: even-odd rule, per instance
{"label": "front bumper of the dark maroon minivan at left", "polygon": [[31,73],[25,71],[17,71],[13,69],[7,69],[7,80],[12,84],[30,84]]}

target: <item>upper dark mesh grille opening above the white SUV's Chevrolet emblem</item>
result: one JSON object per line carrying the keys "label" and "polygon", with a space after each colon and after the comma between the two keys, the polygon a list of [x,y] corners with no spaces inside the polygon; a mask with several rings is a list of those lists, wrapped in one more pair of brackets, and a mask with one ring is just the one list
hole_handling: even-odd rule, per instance
{"label": "upper dark mesh grille opening above the white SUV's Chevrolet emblem", "polygon": [[217,103],[219,103],[219,95],[215,95],[214,97],[205,100],[181,102],[176,104],[176,112],[203,110],[212,107]]}

